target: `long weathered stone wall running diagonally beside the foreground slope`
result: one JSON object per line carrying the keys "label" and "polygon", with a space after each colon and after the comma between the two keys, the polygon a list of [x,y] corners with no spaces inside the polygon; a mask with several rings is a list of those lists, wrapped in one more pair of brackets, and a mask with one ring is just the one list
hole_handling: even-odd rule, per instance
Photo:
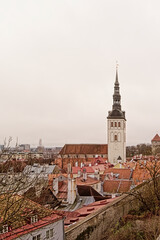
{"label": "long weathered stone wall running diagonally beside the foreground slope", "polygon": [[138,201],[123,195],[65,230],[66,240],[102,240],[121,217],[138,208]]}

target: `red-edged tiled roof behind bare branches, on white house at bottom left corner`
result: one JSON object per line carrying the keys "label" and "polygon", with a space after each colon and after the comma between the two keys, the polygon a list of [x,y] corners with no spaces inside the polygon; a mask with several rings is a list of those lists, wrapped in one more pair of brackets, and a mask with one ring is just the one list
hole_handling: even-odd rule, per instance
{"label": "red-edged tiled roof behind bare branches, on white house at bottom left corner", "polygon": [[[38,221],[32,224],[30,219],[35,215],[38,216]],[[57,214],[53,214],[52,210],[25,197],[12,195],[9,198],[7,194],[0,196],[0,216],[1,224],[7,223],[9,229],[11,229],[7,233],[0,234],[0,239],[6,240],[17,239],[62,218]]]}

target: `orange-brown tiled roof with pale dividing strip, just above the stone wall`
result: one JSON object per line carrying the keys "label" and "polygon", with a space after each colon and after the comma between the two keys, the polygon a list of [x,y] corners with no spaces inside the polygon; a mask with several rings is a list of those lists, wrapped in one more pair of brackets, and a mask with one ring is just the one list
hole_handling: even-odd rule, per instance
{"label": "orange-brown tiled roof with pale dividing strip, just above the stone wall", "polygon": [[103,191],[105,193],[123,193],[130,190],[132,181],[130,180],[105,180]]}

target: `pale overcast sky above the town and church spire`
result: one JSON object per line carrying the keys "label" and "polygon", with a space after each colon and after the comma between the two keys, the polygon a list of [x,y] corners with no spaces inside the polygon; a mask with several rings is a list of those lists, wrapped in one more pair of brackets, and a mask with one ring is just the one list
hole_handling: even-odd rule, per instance
{"label": "pale overcast sky above the town and church spire", "polygon": [[159,0],[0,0],[0,143],[106,143],[116,60],[127,145],[160,134]]}

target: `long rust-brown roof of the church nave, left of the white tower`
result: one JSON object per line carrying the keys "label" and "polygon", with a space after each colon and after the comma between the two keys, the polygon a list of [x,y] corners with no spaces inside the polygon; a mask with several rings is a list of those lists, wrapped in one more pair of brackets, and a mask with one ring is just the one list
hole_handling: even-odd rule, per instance
{"label": "long rust-brown roof of the church nave, left of the white tower", "polygon": [[65,154],[107,154],[107,144],[65,144],[59,152],[60,155]]}

